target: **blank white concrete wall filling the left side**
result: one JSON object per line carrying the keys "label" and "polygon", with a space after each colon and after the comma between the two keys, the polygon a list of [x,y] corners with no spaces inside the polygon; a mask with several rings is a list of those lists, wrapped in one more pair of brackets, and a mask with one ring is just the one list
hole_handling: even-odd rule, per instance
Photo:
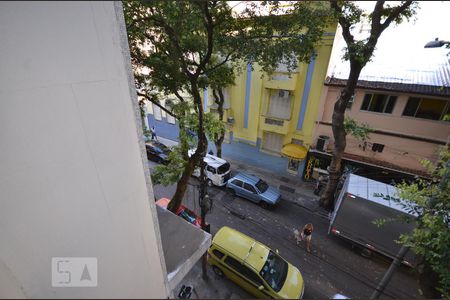
{"label": "blank white concrete wall filling the left side", "polygon": [[[0,297],[168,296],[118,8],[0,2]],[[98,287],[52,287],[66,256]]]}

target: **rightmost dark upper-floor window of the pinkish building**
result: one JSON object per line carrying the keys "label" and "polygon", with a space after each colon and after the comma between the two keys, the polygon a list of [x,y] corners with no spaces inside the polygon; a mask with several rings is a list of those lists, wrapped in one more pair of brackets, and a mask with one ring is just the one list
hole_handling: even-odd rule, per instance
{"label": "rightmost dark upper-floor window of the pinkish building", "polygon": [[408,117],[443,120],[450,114],[450,102],[438,99],[410,97],[403,110],[403,115]]}

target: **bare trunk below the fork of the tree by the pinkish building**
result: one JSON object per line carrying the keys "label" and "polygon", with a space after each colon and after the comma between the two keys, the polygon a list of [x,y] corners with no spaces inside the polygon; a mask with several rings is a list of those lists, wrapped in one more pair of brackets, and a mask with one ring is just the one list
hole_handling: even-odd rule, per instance
{"label": "bare trunk below the fork of the tree by the pinkish building", "polygon": [[350,64],[350,76],[347,84],[342,89],[341,94],[334,104],[332,129],[334,137],[333,158],[328,169],[329,179],[325,191],[320,197],[319,204],[328,211],[334,208],[334,194],[341,176],[341,161],[346,146],[346,132],[344,129],[345,109],[350,98],[355,92],[356,83],[362,66],[357,63]]}

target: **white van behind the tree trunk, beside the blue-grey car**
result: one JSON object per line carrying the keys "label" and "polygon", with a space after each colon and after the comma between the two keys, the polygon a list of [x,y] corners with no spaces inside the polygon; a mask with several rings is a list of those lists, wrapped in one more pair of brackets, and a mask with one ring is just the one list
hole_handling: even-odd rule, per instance
{"label": "white van behind the tree trunk, beside the blue-grey car", "polygon": [[[195,150],[189,150],[191,156]],[[206,163],[205,174],[208,178],[208,185],[224,186],[231,177],[230,164],[220,157],[206,154],[203,161]],[[192,176],[200,177],[200,168],[196,168]]]}

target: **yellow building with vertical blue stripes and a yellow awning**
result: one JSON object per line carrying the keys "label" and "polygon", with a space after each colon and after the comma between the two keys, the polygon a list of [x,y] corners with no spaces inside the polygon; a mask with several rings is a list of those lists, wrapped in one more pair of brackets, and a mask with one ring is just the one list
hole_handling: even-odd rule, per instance
{"label": "yellow building with vertical blue stripes and a yellow awning", "polygon": [[[245,149],[255,161],[261,161],[260,153],[287,157],[278,160],[277,170],[282,163],[284,171],[301,173],[302,159],[312,143],[335,31],[336,26],[328,28],[316,47],[315,59],[309,64],[301,63],[291,73],[280,65],[273,74],[262,77],[257,64],[253,70],[247,65],[235,85],[224,91],[226,143],[229,143],[224,145],[224,155],[232,157],[236,151],[242,152],[242,147],[233,145],[244,143],[253,146]],[[205,90],[203,100],[205,110],[217,108],[211,90]]]}

